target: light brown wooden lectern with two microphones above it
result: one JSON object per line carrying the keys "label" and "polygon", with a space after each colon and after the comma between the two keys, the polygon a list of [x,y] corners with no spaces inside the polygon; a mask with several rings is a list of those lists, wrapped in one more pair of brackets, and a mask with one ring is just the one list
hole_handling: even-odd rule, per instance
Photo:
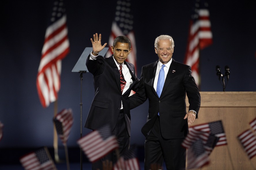
{"label": "light brown wooden lectern with two microphones above it", "polygon": [[[227,145],[217,146],[210,154],[205,169],[255,169],[256,157],[251,160],[237,136],[251,129],[249,122],[256,117],[256,92],[200,92],[201,107],[198,119],[191,125],[222,120]],[[187,110],[188,99],[186,98]]]}

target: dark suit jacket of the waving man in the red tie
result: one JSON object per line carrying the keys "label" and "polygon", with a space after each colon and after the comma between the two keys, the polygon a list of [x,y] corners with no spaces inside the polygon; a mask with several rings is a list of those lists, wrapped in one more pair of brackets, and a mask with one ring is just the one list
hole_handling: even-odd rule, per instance
{"label": "dark suit jacket of the waving man in the red tie", "polygon": [[123,111],[127,132],[130,136],[131,115],[129,109],[129,94],[131,90],[136,91],[139,79],[135,76],[134,65],[124,62],[127,65],[133,83],[129,89],[122,95],[120,85],[120,73],[113,55],[109,58],[98,56],[96,60],[86,60],[88,71],[93,74],[95,96],[89,110],[84,127],[89,129],[98,129],[105,124],[109,124],[111,130],[114,130],[119,116],[121,100],[123,101]]}

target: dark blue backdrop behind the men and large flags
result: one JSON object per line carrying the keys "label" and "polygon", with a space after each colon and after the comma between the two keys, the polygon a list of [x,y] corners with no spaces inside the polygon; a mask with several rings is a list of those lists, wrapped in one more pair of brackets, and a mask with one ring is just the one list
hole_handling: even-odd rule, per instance
{"label": "dark blue backdrop behind the men and large flags", "polygon": [[[156,61],[154,40],[161,34],[174,38],[173,58],[183,62],[187,45],[190,0],[131,0],[137,48],[137,75],[143,65]],[[52,146],[54,104],[43,108],[36,76],[52,1],[1,1],[0,121],[4,124],[0,148]],[[108,42],[116,1],[66,1],[70,53],[62,62],[58,111],[71,108],[74,125],[67,145],[78,147],[80,138],[80,75],[71,72],[95,32]],[[210,1],[213,44],[201,51],[201,91],[222,91],[215,67],[230,68],[226,91],[255,91],[255,1]],[[224,72],[224,71],[223,71]],[[94,96],[93,77],[82,81],[82,122]],[[131,143],[143,145],[140,132],[148,102],[131,110]],[[209,120],[210,121],[210,120]],[[83,128],[83,135],[91,132]],[[62,145],[59,140],[59,145]]]}

